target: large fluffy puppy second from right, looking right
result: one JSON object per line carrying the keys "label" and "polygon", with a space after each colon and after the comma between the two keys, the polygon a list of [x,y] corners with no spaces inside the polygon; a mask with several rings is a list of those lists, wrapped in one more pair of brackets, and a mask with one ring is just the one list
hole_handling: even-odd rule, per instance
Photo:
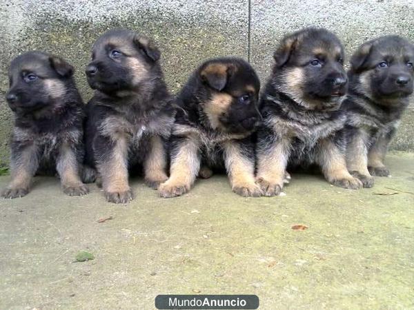
{"label": "large fluffy puppy second from right, looking right", "polygon": [[264,195],[282,191],[288,166],[316,164],[333,185],[361,187],[346,169],[346,115],[339,107],[348,80],[339,39],[306,28],[284,37],[274,58],[260,101],[264,122],[257,141],[257,183]]}

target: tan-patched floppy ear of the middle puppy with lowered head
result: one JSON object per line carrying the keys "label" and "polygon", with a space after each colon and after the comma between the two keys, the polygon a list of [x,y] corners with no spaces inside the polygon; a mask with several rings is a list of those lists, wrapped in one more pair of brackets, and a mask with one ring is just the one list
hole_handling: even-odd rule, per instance
{"label": "tan-patched floppy ear of the middle puppy with lowered head", "polygon": [[226,87],[228,76],[233,66],[226,63],[209,63],[201,69],[200,76],[204,83],[219,92]]}

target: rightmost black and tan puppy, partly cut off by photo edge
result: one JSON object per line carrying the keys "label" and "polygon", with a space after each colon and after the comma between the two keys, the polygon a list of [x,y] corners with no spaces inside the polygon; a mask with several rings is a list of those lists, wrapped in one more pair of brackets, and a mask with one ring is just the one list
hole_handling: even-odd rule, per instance
{"label": "rightmost black and tan puppy, partly cut off by photo edge", "polygon": [[[364,187],[373,176],[388,176],[384,157],[402,112],[413,94],[414,45],[397,36],[362,44],[351,58],[347,165]],[[370,174],[371,173],[371,174]]]}

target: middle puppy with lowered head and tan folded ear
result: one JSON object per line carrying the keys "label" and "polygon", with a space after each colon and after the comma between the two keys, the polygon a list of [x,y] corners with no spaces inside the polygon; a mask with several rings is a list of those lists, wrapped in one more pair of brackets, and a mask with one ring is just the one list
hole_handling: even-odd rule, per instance
{"label": "middle puppy with lowered head and tan folded ear", "polygon": [[195,70],[177,97],[170,178],[159,187],[162,197],[180,196],[197,174],[206,178],[211,169],[224,168],[234,192],[260,196],[252,142],[261,118],[259,87],[255,70],[242,59],[212,59]]}

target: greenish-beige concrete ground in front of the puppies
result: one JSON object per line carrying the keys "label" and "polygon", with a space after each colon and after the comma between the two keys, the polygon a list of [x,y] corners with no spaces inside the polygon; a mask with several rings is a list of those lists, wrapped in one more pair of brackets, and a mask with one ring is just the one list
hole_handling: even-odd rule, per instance
{"label": "greenish-beige concrete ground in front of the puppies", "polygon": [[[414,154],[386,163],[393,177],[373,189],[294,174],[276,198],[239,197],[213,176],[161,199],[135,180],[127,206],[95,185],[69,197],[37,178],[25,198],[0,201],[0,309],[153,309],[159,293],[252,293],[260,309],[414,308],[414,195],[374,194],[414,192]],[[95,260],[74,262],[82,250]]]}

